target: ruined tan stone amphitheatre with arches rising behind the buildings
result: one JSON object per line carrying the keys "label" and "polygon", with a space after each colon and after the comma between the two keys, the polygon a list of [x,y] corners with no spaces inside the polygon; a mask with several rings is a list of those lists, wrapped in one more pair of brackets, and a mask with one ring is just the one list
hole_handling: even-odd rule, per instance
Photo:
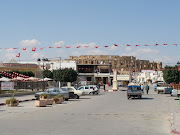
{"label": "ruined tan stone amphitheatre with arches rising behind the buildings", "polygon": [[156,63],[154,61],[149,62],[149,60],[139,60],[133,56],[81,55],[79,57],[70,56],[69,59],[75,60],[79,65],[98,64],[104,69],[111,68],[119,71],[160,70],[162,68],[162,62]]}

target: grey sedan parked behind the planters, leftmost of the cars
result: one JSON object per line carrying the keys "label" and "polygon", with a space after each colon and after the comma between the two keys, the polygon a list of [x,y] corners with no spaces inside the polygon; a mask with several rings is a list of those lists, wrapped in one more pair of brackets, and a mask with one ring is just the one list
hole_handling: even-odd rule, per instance
{"label": "grey sedan parked behind the planters, leftmost of the cars", "polygon": [[50,98],[53,98],[57,95],[62,95],[64,96],[65,98],[65,101],[67,101],[69,99],[69,91],[68,90],[63,90],[61,88],[49,88],[47,89],[46,91],[44,92],[38,92],[38,93],[35,93],[35,98],[36,99],[39,99],[39,97],[42,95],[42,94],[49,94],[49,97]]}

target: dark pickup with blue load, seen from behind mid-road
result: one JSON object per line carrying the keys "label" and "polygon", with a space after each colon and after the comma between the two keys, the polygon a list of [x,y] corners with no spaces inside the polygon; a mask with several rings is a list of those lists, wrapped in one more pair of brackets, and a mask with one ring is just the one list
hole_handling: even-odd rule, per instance
{"label": "dark pickup with blue load, seen from behind mid-road", "polygon": [[142,98],[142,90],[141,90],[140,86],[138,86],[138,85],[128,86],[127,99],[129,99],[131,97]]}

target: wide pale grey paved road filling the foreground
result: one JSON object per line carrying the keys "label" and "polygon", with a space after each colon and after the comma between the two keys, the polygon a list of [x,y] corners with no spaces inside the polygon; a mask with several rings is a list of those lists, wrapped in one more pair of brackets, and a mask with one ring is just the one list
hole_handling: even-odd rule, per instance
{"label": "wide pale grey paved road filling the foreground", "polygon": [[175,97],[150,94],[127,100],[125,91],[101,92],[60,105],[0,107],[1,135],[169,135],[169,113],[179,108]]}

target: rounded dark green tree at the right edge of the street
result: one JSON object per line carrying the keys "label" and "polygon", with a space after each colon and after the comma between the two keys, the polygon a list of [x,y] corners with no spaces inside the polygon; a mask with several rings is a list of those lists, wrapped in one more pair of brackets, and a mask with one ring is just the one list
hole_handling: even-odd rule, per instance
{"label": "rounded dark green tree at the right edge of the street", "polygon": [[166,83],[179,82],[179,71],[177,69],[177,65],[174,67],[165,66],[163,70],[163,78]]}

